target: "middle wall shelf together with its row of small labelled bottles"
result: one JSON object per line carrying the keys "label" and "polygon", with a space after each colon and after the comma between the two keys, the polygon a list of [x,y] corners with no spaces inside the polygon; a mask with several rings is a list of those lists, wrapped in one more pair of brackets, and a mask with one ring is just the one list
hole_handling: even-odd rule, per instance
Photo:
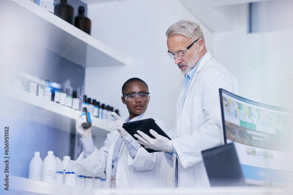
{"label": "middle wall shelf together with its row of small labelled bottles", "polygon": [[[50,82],[37,76],[27,73],[17,73],[12,79],[12,86],[9,82],[3,85],[4,94],[13,97],[16,101],[22,101],[26,104],[20,112],[16,112],[19,118],[32,120],[37,123],[44,121],[44,116],[54,118],[48,126],[65,132],[70,131],[70,118],[78,119],[81,114],[81,108],[86,107],[91,115],[91,126],[93,137],[106,136],[110,130],[109,122],[116,118],[112,115],[113,107],[105,106],[104,103],[96,99],[81,95],[82,90],[77,87],[76,90],[70,87],[70,80],[67,79],[63,84]],[[34,106],[31,106],[34,105]],[[13,101],[8,105],[6,111],[14,107]],[[119,111],[115,110],[119,115]],[[72,125],[72,124],[71,124]]]}

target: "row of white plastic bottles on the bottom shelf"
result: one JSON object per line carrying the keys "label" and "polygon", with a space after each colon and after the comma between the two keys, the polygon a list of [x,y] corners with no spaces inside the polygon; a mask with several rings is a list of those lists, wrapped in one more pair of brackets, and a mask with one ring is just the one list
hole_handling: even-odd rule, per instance
{"label": "row of white plastic bottles on the bottom shelf", "polygon": [[84,170],[76,161],[70,160],[70,156],[64,156],[63,160],[48,151],[44,161],[40,158],[40,152],[30,161],[28,178],[49,183],[78,186],[83,189],[105,188],[105,173],[92,173]]}

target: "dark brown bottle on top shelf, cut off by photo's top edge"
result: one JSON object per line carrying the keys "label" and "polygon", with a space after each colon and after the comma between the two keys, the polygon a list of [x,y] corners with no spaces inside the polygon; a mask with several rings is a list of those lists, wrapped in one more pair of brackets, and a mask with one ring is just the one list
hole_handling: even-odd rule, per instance
{"label": "dark brown bottle on top shelf, cut off by photo's top edge", "polygon": [[55,5],[54,14],[73,25],[74,8],[67,4],[67,0],[61,0]]}

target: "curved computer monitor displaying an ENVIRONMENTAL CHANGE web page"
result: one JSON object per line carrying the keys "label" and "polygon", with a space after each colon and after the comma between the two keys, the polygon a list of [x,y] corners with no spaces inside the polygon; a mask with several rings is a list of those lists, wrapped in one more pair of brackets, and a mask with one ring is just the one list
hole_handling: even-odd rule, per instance
{"label": "curved computer monitor displaying an ENVIRONMENTAL CHANGE web page", "polygon": [[288,185],[293,178],[292,110],[219,92],[224,142],[234,142],[246,183]]}

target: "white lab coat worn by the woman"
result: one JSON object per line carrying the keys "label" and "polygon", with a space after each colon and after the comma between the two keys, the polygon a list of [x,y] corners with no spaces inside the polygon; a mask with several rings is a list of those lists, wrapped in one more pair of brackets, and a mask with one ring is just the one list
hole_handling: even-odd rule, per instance
{"label": "white lab coat worn by the woman", "polygon": [[[150,116],[145,112],[140,120],[147,118],[150,118]],[[154,120],[162,130],[168,132],[168,126],[165,122]],[[106,171],[107,188],[110,188],[113,151],[117,150],[114,146],[119,137],[119,132],[113,130],[107,134],[107,139],[102,148],[98,150],[95,146],[95,150],[88,157],[85,157],[83,151],[77,159],[81,167],[86,170],[97,173]],[[127,191],[128,188],[132,189],[133,187],[162,187],[160,163],[163,156],[163,152],[148,153],[144,148],[139,148],[135,158],[132,158],[122,141],[116,169],[116,188],[125,188]]]}

